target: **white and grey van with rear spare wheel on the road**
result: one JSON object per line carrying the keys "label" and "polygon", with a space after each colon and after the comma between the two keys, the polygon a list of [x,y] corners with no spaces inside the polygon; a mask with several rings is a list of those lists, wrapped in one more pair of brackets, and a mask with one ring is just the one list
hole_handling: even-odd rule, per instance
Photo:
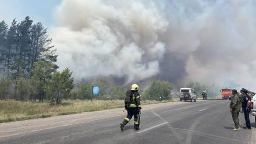
{"label": "white and grey van with rear spare wheel on the road", "polygon": [[190,100],[190,102],[196,102],[196,91],[190,88],[181,88],[180,89],[180,101]]}

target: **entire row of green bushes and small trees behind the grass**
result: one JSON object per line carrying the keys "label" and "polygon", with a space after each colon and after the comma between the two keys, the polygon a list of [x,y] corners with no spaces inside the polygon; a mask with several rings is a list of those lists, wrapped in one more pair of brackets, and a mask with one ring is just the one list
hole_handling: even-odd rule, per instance
{"label": "entire row of green bushes and small trees behind the grass", "polygon": [[[98,86],[100,100],[123,100],[128,90],[122,86],[111,86],[106,81],[100,80],[96,82],[88,82],[81,80],[73,84],[72,72],[66,68],[59,72],[53,69],[52,65],[45,62],[36,62],[32,68],[32,76],[20,77],[17,80],[17,96],[7,97],[11,85],[14,82],[7,80],[6,76],[0,78],[2,85],[0,96],[2,100],[16,99],[20,101],[50,101],[59,104],[62,99],[71,100],[91,100],[97,99],[97,95],[92,94],[92,86]],[[172,84],[164,80],[153,80],[150,86],[143,91],[139,89],[142,100],[171,100]]]}

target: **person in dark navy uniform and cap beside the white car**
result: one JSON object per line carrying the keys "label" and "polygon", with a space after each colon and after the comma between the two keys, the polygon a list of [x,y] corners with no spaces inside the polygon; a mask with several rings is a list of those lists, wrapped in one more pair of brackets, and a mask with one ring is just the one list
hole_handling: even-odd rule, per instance
{"label": "person in dark navy uniform and cap beside the white car", "polygon": [[251,98],[248,95],[248,90],[242,89],[241,91],[243,95],[242,109],[246,119],[246,126],[243,128],[251,129],[251,123],[250,123]]}

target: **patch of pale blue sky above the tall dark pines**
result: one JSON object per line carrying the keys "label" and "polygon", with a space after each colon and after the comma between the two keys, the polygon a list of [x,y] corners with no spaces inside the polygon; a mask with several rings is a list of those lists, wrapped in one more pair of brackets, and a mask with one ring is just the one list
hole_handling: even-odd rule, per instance
{"label": "patch of pale blue sky above the tall dark pines", "polygon": [[41,21],[45,26],[54,23],[54,11],[61,0],[0,0],[0,20],[5,20],[8,25],[16,18],[21,21],[30,16],[34,22]]}

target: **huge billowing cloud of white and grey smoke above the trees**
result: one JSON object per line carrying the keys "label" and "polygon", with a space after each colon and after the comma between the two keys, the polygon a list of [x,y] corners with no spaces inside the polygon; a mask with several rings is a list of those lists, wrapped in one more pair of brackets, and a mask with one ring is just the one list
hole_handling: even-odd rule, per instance
{"label": "huge billowing cloud of white and grey smoke above the trees", "polygon": [[[51,36],[75,78],[253,88],[255,1],[64,0]],[[121,82],[120,82],[121,81]],[[230,85],[231,85],[230,84]]]}

